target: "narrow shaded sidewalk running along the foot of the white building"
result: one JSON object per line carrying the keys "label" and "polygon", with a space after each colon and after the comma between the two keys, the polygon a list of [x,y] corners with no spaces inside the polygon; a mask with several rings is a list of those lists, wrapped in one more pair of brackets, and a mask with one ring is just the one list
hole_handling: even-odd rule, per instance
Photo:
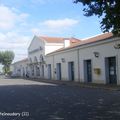
{"label": "narrow shaded sidewalk running along the foot of the white building", "polygon": [[80,82],[74,82],[74,81],[49,80],[49,79],[40,79],[40,78],[39,79],[29,79],[29,80],[58,84],[58,85],[77,86],[77,87],[86,87],[86,88],[100,88],[100,89],[106,89],[106,90],[120,91],[120,85],[80,83]]}

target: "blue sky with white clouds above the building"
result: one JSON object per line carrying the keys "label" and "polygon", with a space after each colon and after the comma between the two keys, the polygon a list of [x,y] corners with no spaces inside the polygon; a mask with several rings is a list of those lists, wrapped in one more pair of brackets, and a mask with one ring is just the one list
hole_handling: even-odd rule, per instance
{"label": "blue sky with white clouds above the building", "polygon": [[0,51],[12,50],[15,61],[27,57],[34,37],[75,37],[101,34],[100,19],[85,17],[73,0],[0,0]]}

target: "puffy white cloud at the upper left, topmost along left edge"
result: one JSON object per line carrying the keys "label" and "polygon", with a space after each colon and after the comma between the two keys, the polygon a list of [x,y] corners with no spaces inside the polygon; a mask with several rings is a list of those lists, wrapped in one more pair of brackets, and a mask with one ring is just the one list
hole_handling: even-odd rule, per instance
{"label": "puffy white cloud at the upper left, topmost along left edge", "polygon": [[13,8],[0,5],[0,28],[9,30],[18,22],[23,22],[29,15],[27,13],[16,13]]}

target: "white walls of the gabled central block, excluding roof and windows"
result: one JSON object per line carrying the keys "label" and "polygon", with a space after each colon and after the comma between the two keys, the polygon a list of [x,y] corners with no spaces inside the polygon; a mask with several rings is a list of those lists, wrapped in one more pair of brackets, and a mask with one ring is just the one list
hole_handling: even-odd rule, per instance
{"label": "white walls of the gabled central block, excluding roof and windows", "polygon": [[[39,50],[39,48],[42,47],[42,50]],[[35,64],[36,62],[38,62],[38,64],[40,64],[40,55],[43,56],[44,60],[46,61],[45,55],[48,53],[51,53],[55,50],[58,50],[60,48],[63,47],[63,43],[47,43],[46,41],[44,41],[43,39],[40,39],[38,37],[34,37],[33,40],[31,41],[31,44],[28,48],[28,58],[29,58],[29,62],[30,59],[32,60],[32,66],[34,66],[34,73],[36,73],[36,69],[35,69]],[[36,51],[37,50],[37,51]],[[31,53],[31,51],[34,51]],[[35,61],[35,57],[37,58],[37,61]],[[44,63],[41,63],[42,65]],[[40,73],[42,71],[41,65],[39,65],[40,67]],[[29,69],[31,69],[29,67]],[[30,76],[31,76],[32,71],[30,70]],[[48,70],[47,70],[47,65],[44,65],[44,77],[47,78],[48,77]],[[32,77],[32,76],[31,76]],[[36,76],[36,74],[34,74],[33,77],[42,77],[42,76]]]}

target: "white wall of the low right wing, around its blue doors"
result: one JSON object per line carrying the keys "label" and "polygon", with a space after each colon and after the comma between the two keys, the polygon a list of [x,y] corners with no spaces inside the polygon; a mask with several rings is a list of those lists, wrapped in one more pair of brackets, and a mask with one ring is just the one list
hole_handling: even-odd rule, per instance
{"label": "white wall of the low right wing, around its blue doors", "polygon": [[[68,80],[68,62],[73,61],[75,65],[75,81],[85,82],[84,78],[84,60],[91,59],[92,61],[92,82],[93,83],[106,83],[105,75],[105,58],[115,56],[117,59],[117,84],[120,84],[120,49],[115,49],[114,45],[120,43],[120,40],[110,40],[108,42],[93,43],[91,45],[84,45],[70,50],[56,52],[47,55],[47,64],[52,64],[52,77],[56,78],[54,69],[56,63],[61,63],[62,79]],[[94,52],[99,53],[99,57],[94,56]],[[78,54],[79,53],[79,54]],[[78,58],[79,57],[79,58]],[[61,58],[65,58],[62,63]],[[78,62],[79,61],[79,62]],[[100,68],[101,74],[97,75],[94,68]]]}

